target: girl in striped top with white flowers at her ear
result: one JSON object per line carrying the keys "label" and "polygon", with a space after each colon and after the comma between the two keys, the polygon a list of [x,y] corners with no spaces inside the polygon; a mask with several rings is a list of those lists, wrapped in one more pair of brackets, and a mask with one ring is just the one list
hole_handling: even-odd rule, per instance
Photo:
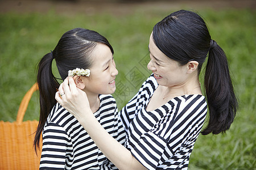
{"label": "girl in striped top with white flowers at her ear", "polygon": [[55,59],[61,78],[72,76],[75,86],[88,94],[88,109],[98,123],[123,144],[125,131],[118,120],[115,100],[109,95],[115,91],[118,74],[113,54],[105,37],[88,29],[75,28],[64,33],[55,49],[39,62],[40,119],[34,145],[35,149],[39,146],[42,133],[40,169],[117,169],[77,119],[56,103],[54,96],[59,83],[52,74]]}

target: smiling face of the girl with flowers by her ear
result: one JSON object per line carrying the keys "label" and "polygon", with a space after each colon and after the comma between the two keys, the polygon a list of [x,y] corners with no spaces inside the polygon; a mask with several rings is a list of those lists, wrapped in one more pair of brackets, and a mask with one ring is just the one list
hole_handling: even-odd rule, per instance
{"label": "smiling face of the girl with flowers by her ear", "polygon": [[115,69],[113,54],[105,44],[98,43],[92,52],[90,76],[82,76],[86,94],[113,94],[115,91]]}

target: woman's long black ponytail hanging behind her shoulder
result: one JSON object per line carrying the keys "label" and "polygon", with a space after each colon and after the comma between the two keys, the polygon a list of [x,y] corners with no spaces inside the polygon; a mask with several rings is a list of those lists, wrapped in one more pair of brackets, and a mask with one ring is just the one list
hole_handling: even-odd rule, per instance
{"label": "woman's long black ponytail hanging behind her shoulder", "polygon": [[209,107],[209,120],[207,128],[201,133],[203,135],[225,133],[236,116],[238,103],[226,55],[214,40],[210,40],[204,85]]}

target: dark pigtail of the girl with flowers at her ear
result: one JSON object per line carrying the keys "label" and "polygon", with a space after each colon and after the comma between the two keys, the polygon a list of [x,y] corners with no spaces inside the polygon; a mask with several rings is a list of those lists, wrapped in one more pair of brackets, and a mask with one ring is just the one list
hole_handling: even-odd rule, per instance
{"label": "dark pigtail of the girl with flowers at her ear", "polygon": [[34,139],[35,151],[36,147],[39,148],[40,136],[44,128],[44,124],[46,123],[48,114],[56,104],[55,93],[60,85],[55,76],[52,74],[53,59],[53,52],[51,52],[46,54],[38,64],[37,82],[40,94],[40,117]]}

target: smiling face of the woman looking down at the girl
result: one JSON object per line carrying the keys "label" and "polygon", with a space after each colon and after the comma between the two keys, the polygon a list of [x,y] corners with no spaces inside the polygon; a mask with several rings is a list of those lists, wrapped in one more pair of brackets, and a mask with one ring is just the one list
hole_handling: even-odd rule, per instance
{"label": "smiling face of the woman looking down at the girl", "polygon": [[150,36],[150,42],[148,45],[150,51],[150,62],[148,62],[147,68],[154,73],[154,77],[158,84],[166,87],[181,86],[187,80],[187,67],[179,66],[179,63],[168,58],[162,53],[155,42]]}

